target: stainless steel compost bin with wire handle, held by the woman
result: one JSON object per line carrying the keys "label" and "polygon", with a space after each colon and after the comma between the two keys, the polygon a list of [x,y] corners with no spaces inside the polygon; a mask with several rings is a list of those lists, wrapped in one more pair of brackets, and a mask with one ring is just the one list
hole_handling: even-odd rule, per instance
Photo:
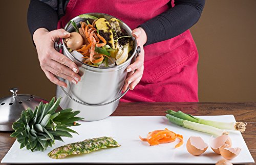
{"label": "stainless steel compost bin with wire handle, held by the woman", "polygon": [[[113,18],[111,15],[102,13],[87,13],[89,15],[107,20]],[[118,18],[117,18],[118,19]],[[78,25],[80,21],[86,19],[75,17],[72,20]],[[119,20],[119,19],[118,19]],[[125,30],[132,36],[132,30],[119,20],[121,29]],[[65,30],[74,32],[72,24],[67,24]],[[71,59],[79,67],[79,75],[81,81],[74,85],[68,80],[59,78],[65,81],[68,85],[66,89],[57,86],[57,97],[62,97],[60,106],[63,109],[73,108],[81,111],[80,117],[86,121],[101,120],[110,116],[117,108],[119,99],[129,90],[127,89],[122,93],[122,87],[126,78],[125,69],[129,66],[133,59],[136,58],[140,52],[140,47],[137,48],[136,40],[133,37],[134,49],[132,56],[127,59],[123,64],[109,68],[98,68],[82,63],[79,59],[74,57],[64,43],[63,39],[60,43],[55,43],[55,49],[62,49],[62,53]]]}

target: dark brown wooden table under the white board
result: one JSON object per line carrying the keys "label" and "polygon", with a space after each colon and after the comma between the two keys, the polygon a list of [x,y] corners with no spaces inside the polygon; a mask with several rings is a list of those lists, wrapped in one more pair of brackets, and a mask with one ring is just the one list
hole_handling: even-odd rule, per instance
{"label": "dark brown wooden table under the white board", "polygon": [[[164,111],[173,109],[195,116],[234,115],[237,121],[247,123],[244,140],[255,160],[256,158],[256,102],[121,102],[113,116],[163,116]],[[11,132],[0,131],[0,160],[11,148],[14,138]]]}

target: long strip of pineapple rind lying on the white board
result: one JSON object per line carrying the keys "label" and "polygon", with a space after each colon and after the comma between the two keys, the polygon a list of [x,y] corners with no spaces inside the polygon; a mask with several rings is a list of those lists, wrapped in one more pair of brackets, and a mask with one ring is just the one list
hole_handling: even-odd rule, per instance
{"label": "long strip of pineapple rind lying on the white board", "polygon": [[107,147],[120,147],[120,145],[112,137],[97,137],[58,147],[49,152],[48,156],[53,159],[61,159],[68,155],[90,153]]}

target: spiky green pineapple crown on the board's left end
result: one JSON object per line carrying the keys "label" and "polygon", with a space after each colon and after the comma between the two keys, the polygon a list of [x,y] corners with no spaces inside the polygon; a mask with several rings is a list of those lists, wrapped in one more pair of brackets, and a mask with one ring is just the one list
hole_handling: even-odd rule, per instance
{"label": "spiky green pineapple crown on the board's left end", "polygon": [[61,136],[72,137],[69,132],[77,133],[68,127],[80,125],[76,121],[83,118],[75,117],[80,111],[69,108],[56,112],[60,98],[54,101],[55,97],[49,103],[40,102],[34,112],[28,107],[12,124],[14,132],[10,136],[16,137],[20,149],[44,151],[48,146],[52,147],[55,140],[63,142]]}

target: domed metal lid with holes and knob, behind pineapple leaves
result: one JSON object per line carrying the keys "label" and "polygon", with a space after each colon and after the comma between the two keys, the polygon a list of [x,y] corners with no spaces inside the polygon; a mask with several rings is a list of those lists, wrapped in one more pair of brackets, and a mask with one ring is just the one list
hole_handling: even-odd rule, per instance
{"label": "domed metal lid with holes and knob, behind pineapple leaves", "polygon": [[30,107],[33,111],[42,98],[34,95],[17,94],[18,88],[11,88],[12,96],[0,98],[0,131],[10,131],[12,123],[17,121],[22,111]]}

